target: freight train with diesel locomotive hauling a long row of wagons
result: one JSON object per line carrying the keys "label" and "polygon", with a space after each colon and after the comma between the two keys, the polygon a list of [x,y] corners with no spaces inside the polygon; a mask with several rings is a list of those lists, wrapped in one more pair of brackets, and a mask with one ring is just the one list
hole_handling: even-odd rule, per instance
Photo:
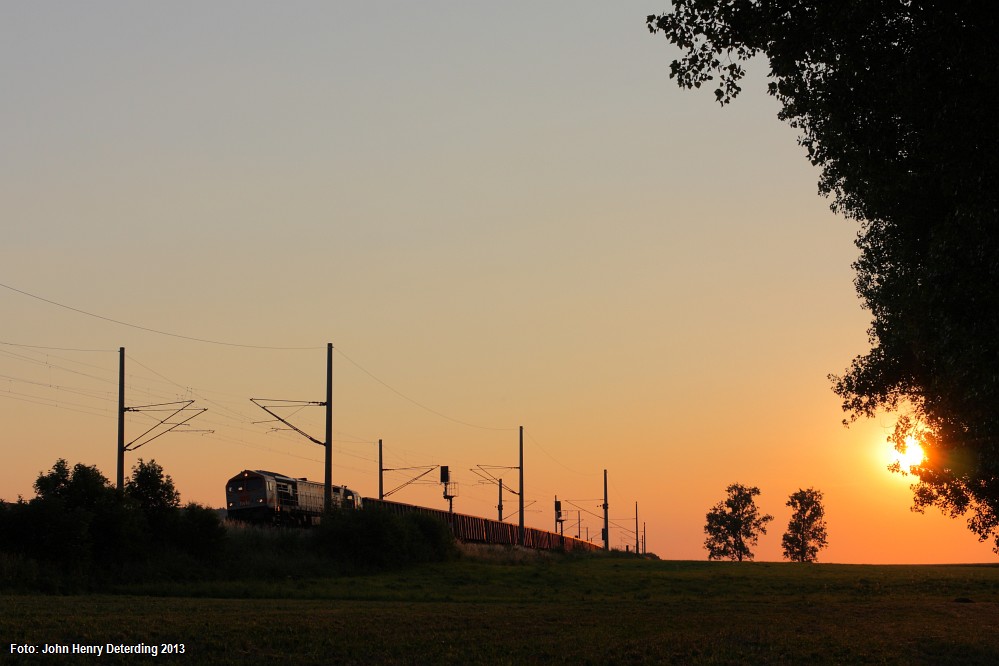
{"label": "freight train with diesel locomotive hauling a long row of wagons", "polygon": [[[323,513],[323,484],[264,470],[243,470],[226,484],[228,517],[246,522],[278,525],[316,525]],[[440,509],[361,498],[345,486],[333,486],[333,505],[394,514],[422,513],[451,528],[458,541],[486,544],[521,544],[539,550],[600,550],[600,546],[555,532],[524,528],[523,541],[517,525]]]}

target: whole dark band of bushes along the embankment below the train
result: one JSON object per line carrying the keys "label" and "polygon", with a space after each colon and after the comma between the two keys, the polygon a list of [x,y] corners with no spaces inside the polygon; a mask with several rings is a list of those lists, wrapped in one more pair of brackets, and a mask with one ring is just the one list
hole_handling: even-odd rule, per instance
{"label": "whole dark band of bushes along the embankment below the train", "polygon": [[334,511],[315,529],[223,522],[182,505],[155,461],[122,491],[93,466],[59,460],[30,500],[0,502],[0,588],[72,593],[150,582],[363,573],[456,554],[447,526],[422,515]]}

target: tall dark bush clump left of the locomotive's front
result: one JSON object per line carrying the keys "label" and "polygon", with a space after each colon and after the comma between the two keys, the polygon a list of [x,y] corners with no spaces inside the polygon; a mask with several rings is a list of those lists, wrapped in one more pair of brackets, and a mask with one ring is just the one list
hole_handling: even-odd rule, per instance
{"label": "tall dark bush clump left of the locomotive's front", "polygon": [[0,571],[0,587],[73,591],[150,572],[194,575],[225,546],[217,513],[181,510],[155,461],[140,460],[123,493],[96,467],[63,459],[34,487],[31,500],[0,504],[0,555],[23,563]]}

